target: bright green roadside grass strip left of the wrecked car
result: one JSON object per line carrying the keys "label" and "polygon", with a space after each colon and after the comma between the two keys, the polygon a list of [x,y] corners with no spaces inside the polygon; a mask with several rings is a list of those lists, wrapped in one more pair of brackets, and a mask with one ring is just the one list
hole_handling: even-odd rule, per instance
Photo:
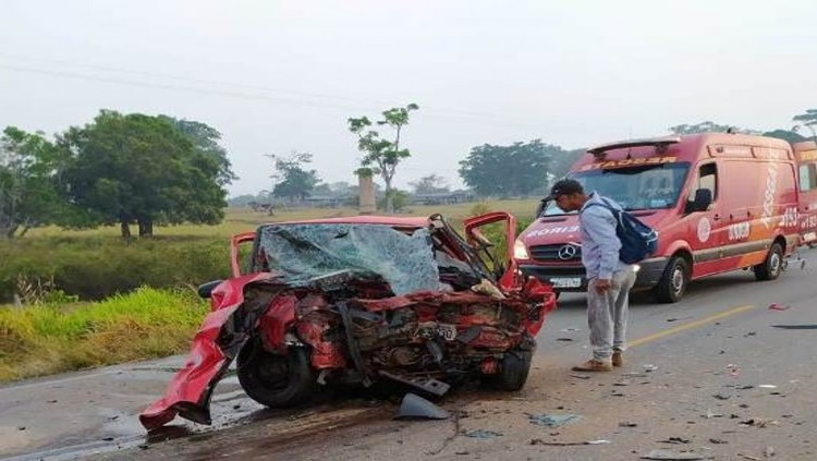
{"label": "bright green roadside grass strip left of the wrecked car", "polygon": [[0,381],[186,352],[207,313],[191,290],[95,303],[0,306]]}

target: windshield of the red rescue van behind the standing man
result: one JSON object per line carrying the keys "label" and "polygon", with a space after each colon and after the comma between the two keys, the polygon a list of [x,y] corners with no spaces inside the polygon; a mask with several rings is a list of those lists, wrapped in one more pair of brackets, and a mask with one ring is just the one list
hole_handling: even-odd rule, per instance
{"label": "windshield of the red rescue van behind the standing man", "polygon": [[[568,177],[581,182],[588,193],[596,191],[626,210],[666,209],[678,203],[687,171],[688,162],[678,162],[581,171]],[[542,216],[563,214],[550,203]]]}

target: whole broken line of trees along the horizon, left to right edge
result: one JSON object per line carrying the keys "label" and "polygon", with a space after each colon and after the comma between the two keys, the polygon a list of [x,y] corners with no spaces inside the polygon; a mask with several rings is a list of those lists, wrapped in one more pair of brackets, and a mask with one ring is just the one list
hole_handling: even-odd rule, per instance
{"label": "whole broken line of trees along the horizon, left to right edge", "polygon": [[[393,211],[405,193],[393,186],[399,166],[411,157],[405,131],[419,107],[410,104],[347,119],[362,154],[357,175],[385,184],[383,208]],[[673,134],[743,132],[790,143],[817,138],[817,109],[795,116],[791,129],[758,131],[712,121],[669,128]],[[9,126],[0,136],[0,236],[24,235],[38,226],[68,229],[119,226],[123,236],[153,235],[155,226],[215,225],[224,216],[227,185],[236,179],[221,134],[206,123],[169,116],[101,110],[83,126],[51,138]],[[473,147],[460,161],[463,182],[477,195],[520,197],[541,194],[585,151],[541,139]],[[304,201],[315,193],[354,194],[345,182],[326,184],[309,168],[313,155],[269,155],[270,195]],[[428,174],[411,183],[415,194],[450,191],[444,178]],[[342,191],[342,192],[341,192]]]}

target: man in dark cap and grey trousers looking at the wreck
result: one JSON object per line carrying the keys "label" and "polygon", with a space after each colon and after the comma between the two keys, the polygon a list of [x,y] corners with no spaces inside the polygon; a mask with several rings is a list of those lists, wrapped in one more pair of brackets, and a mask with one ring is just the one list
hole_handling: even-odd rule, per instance
{"label": "man in dark cap and grey trousers looking at the wreck", "polygon": [[553,184],[550,198],[562,210],[578,210],[582,229],[582,264],[587,271],[587,323],[590,327],[593,359],[574,366],[576,372],[610,372],[623,364],[626,349],[630,289],[635,283],[635,266],[619,259],[619,226],[610,207],[621,206],[596,192],[585,194],[575,180]]}

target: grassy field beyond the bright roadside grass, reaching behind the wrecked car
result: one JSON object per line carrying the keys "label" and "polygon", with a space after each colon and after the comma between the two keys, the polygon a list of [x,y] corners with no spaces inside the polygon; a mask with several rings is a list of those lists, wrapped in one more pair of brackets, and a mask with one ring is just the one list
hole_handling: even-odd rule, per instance
{"label": "grassy field beyond the bright roadside grass, reaching behind the wrecked car", "polygon": [[[510,211],[524,225],[537,204],[487,201],[447,206],[414,206],[402,216],[441,213],[454,227],[474,214]],[[95,230],[34,229],[22,239],[0,241],[0,304],[10,302],[22,282],[53,281],[82,300],[101,300],[137,287],[190,287],[230,274],[228,239],[259,223],[357,215],[355,208],[281,209],[273,216],[249,208],[228,209],[218,226],[155,228],[153,239],[123,240],[118,227]],[[499,243],[499,242],[497,242]],[[22,280],[21,280],[22,278]]]}

